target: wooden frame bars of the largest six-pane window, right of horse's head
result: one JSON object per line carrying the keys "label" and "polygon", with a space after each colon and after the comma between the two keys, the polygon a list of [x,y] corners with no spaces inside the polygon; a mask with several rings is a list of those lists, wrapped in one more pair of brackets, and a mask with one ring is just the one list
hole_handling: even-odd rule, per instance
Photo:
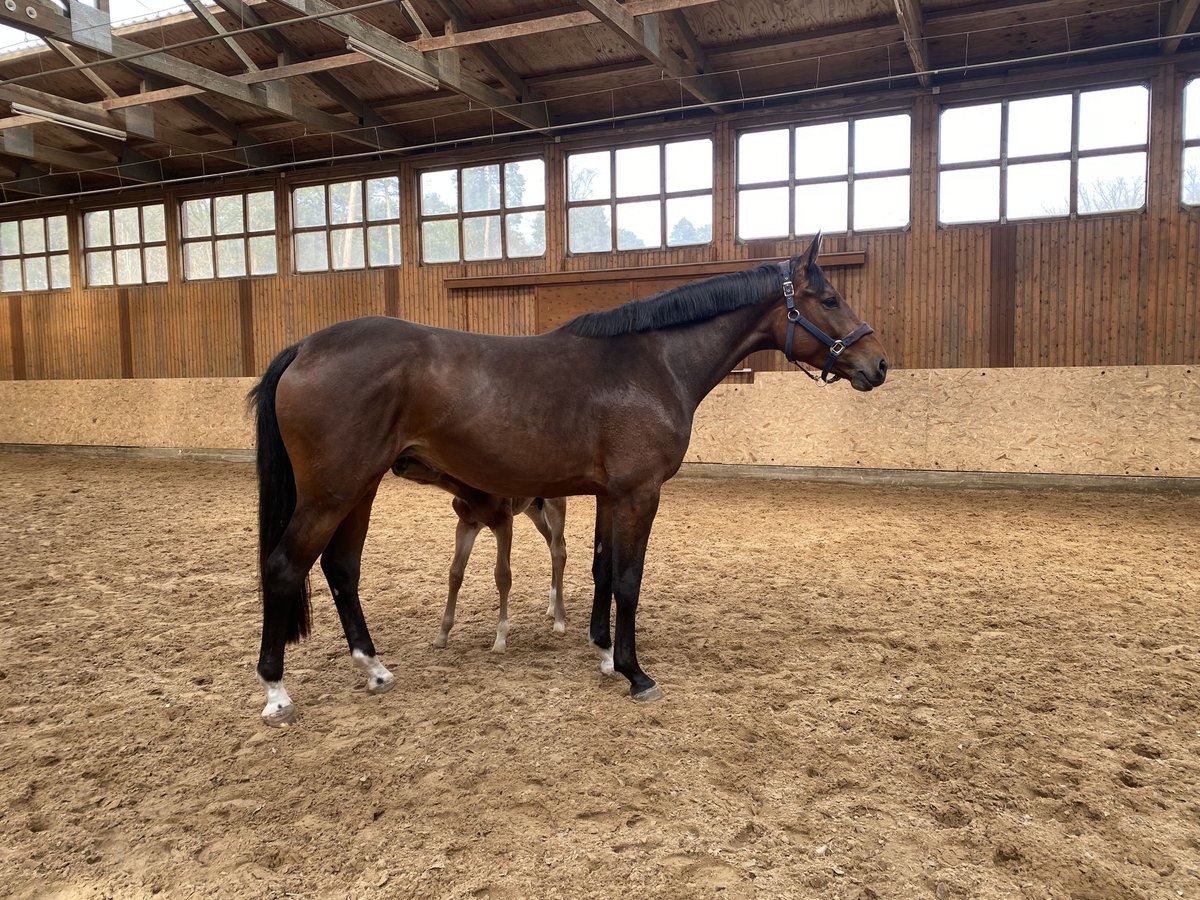
{"label": "wooden frame bars of the largest six-pane window, right of horse's head", "polygon": [[[1092,94],[1096,91],[1104,90],[1117,90],[1121,88],[1145,88],[1146,89],[1146,139],[1140,144],[1122,144],[1121,146],[1105,146],[1094,150],[1080,150],[1079,148],[1079,133],[1080,133],[1080,97],[1084,94]],[[1022,101],[1022,100],[1040,100],[1049,97],[1070,97],[1070,148],[1064,151],[1055,154],[1037,154],[1033,156],[1019,156],[1015,160],[1010,160],[1008,156],[1008,107],[1009,103]],[[988,160],[971,160],[968,162],[952,162],[942,163],[942,114],[949,109],[967,109],[971,107],[983,107],[991,106],[992,103],[1000,103],[1000,144],[998,155],[990,157]],[[1134,212],[1145,212],[1146,204],[1148,203],[1148,181],[1150,181],[1150,132],[1151,121],[1150,116],[1153,112],[1153,88],[1148,82],[1126,82],[1121,84],[1109,84],[1109,85],[1090,85],[1084,88],[1072,88],[1070,90],[1054,90],[1054,91],[1038,91],[1037,94],[1022,94],[1019,96],[1000,97],[997,100],[985,100],[985,101],[972,101],[964,103],[947,103],[943,104],[937,112],[937,212],[936,221],[938,228],[958,228],[958,227],[970,227],[980,224],[1008,224],[1010,222],[1043,222],[1052,220],[1076,220],[1080,217],[1092,217],[1092,216],[1117,216],[1127,215]],[[1200,140],[1196,142],[1200,144]],[[1080,212],[1079,210],[1079,161],[1098,158],[1103,156],[1120,156],[1123,154],[1145,154],[1146,156],[1146,172],[1144,175],[1144,188],[1141,205],[1130,209],[1105,209],[1105,210],[1092,210]],[[1027,166],[1033,163],[1044,162],[1069,162],[1070,173],[1068,175],[1067,185],[1067,212],[1062,215],[1048,215],[1048,216],[1019,216],[1010,217],[1008,215],[1008,169],[1012,166]],[[942,221],[942,173],[943,172],[965,172],[970,169],[1000,169],[1000,205],[998,215],[996,218],[978,218],[968,222],[943,222]]]}

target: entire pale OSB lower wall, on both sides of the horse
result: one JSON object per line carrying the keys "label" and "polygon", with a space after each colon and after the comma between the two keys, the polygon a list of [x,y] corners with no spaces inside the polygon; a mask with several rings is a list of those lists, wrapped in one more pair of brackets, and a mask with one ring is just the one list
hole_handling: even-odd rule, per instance
{"label": "entire pale OSB lower wall, on both sides of the horse", "polygon": [[[0,443],[248,448],[253,384],[5,382]],[[904,370],[870,394],[768,372],[708,396],[686,460],[1194,478],[1198,445],[1200,368],[1192,366]]]}

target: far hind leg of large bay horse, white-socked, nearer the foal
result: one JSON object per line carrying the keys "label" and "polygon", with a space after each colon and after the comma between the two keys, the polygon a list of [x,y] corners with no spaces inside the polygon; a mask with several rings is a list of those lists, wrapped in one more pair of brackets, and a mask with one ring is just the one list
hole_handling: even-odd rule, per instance
{"label": "far hind leg of large bay horse, white-socked, nearer the foal", "polygon": [[346,641],[350,646],[350,659],[366,673],[367,690],[372,694],[385,694],[396,685],[396,678],[376,656],[374,643],[371,641],[371,632],[362,616],[362,604],[359,601],[362,545],[371,524],[371,504],[374,502],[374,496],[376,487],[372,487],[342,520],[320,556],[320,568],[334,595]]}

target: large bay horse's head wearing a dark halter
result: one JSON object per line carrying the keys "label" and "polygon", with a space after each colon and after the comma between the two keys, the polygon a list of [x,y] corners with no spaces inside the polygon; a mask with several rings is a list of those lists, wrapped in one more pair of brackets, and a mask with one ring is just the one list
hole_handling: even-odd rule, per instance
{"label": "large bay horse's head wearing a dark halter", "polygon": [[854,390],[883,384],[888,361],[870,325],[858,318],[845,298],[826,281],[817,265],[821,235],[809,248],[780,265],[784,272],[782,314],[773,325],[788,361],[821,370],[821,380],[846,378]]}

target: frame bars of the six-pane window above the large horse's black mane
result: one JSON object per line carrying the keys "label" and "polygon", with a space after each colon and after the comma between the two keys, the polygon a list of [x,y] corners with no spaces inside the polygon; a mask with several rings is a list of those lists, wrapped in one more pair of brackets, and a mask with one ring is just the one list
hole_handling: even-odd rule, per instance
{"label": "frame bars of the six-pane window above the large horse's black mane", "polygon": [[[709,143],[709,160],[710,160],[710,175],[708,187],[689,188],[685,191],[667,191],[667,146],[671,144],[690,144],[697,140],[707,140]],[[619,150],[638,150],[647,146],[655,146],[659,151],[659,192],[647,193],[647,194],[630,194],[629,197],[617,196],[617,152]],[[582,156],[586,154],[608,154],[608,197],[601,199],[590,200],[572,200],[570,199],[571,185],[570,185],[570,163],[572,156]],[[668,251],[668,250],[684,250],[688,247],[708,247],[712,246],[716,240],[716,184],[718,184],[718,169],[716,169],[716,139],[713,134],[691,134],[685,137],[673,137],[673,138],[660,138],[658,140],[640,140],[636,143],[622,144],[620,146],[594,146],[584,148],[581,146],[577,150],[569,151],[563,155],[563,215],[565,217],[565,239],[566,239],[566,256],[569,257],[584,257],[595,256],[598,253],[642,253],[642,252],[654,252],[654,251]],[[691,244],[671,244],[671,234],[668,232],[668,220],[667,220],[667,202],[688,199],[694,197],[708,197],[713,210],[713,222],[709,224],[709,234],[707,241],[695,241]],[[617,208],[625,203],[648,203],[658,202],[659,204],[659,234],[661,235],[661,241],[656,247],[620,247],[617,244],[617,235],[619,232],[619,224],[617,221]],[[608,250],[572,250],[571,248],[571,210],[575,209],[588,209],[588,208],[608,208]]]}

